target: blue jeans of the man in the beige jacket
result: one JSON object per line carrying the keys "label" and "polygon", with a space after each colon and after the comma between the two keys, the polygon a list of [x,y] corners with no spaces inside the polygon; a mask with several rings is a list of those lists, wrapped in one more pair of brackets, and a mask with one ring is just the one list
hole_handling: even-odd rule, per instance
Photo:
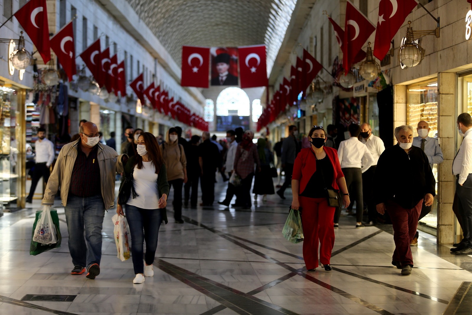
{"label": "blue jeans of the man in the beige jacket", "polygon": [[69,252],[74,266],[89,267],[101,260],[101,229],[105,217],[103,198],[67,196]]}

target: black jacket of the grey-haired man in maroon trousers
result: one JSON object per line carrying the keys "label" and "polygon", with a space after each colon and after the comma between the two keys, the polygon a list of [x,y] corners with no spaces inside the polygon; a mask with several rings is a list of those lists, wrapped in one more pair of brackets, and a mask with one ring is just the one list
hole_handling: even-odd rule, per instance
{"label": "black jacket of the grey-haired man in maroon trousers", "polygon": [[436,195],[428,157],[416,146],[408,154],[398,144],[385,149],[377,162],[374,184],[376,204],[394,201],[412,209],[424,195]]}

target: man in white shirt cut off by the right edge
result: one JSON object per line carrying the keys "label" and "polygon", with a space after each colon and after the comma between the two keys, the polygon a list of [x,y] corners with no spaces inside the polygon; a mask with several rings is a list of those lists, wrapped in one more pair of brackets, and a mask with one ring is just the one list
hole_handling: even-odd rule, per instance
{"label": "man in white shirt cut off by the right edge", "polygon": [[455,255],[472,255],[472,118],[468,113],[457,117],[457,129],[464,135],[459,151],[452,163],[452,172],[456,176],[455,194],[457,209],[455,215],[461,225],[464,238],[451,252]]}

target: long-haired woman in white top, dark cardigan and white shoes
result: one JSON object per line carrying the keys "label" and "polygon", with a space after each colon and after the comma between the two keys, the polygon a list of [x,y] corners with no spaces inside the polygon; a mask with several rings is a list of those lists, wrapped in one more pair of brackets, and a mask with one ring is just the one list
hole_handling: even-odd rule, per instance
{"label": "long-haired woman in white top, dark cardigan and white shoes", "polygon": [[[126,221],[131,233],[131,254],[135,279],[143,283],[144,276],[152,277],[152,263],[157,248],[161,222],[167,224],[167,195],[169,183],[167,170],[156,138],[143,132],[137,140],[137,154],[125,165],[124,176],[118,194],[118,215],[123,215],[125,205]],[[146,241],[145,263],[143,264],[143,242]]]}

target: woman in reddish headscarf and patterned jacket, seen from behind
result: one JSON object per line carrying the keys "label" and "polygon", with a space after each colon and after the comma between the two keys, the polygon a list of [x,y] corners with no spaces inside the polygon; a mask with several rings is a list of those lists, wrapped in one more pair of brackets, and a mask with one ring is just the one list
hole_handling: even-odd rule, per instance
{"label": "woman in reddish headscarf and patterned jacket, seen from behind", "polygon": [[251,130],[244,131],[243,140],[237,146],[234,170],[241,178],[241,186],[236,189],[236,200],[241,204],[236,204],[243,208],[251,207],[251,185],[254,177],[254,164],[257,170],[261,170],[257,147],[253,144],[254,133]]}

